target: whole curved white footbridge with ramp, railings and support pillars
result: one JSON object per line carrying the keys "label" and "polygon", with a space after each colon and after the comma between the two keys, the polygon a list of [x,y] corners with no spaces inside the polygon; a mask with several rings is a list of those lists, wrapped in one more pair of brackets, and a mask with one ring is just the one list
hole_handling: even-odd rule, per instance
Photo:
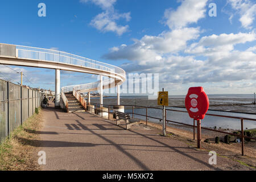
{"label": "whole curved white footbridge with ramp, railings and support pillars", "polygon": [[[100,90],[100,104],[103,105],[103,90],[115,86],[117,86],[117,105],[119,105],[120,85],[126,79],[125,71],[114,65],[67,52],[12,44],[0,43],[0,64],[55,69],[55,107],[60,107],[63,102],[67,110],[69,107],[68,93],[72,93],[72,97],[83,105],[84,100],[80,93],[88,93],[88,104],[90,104],[90,92]],[[60,90],[60,70],[100,75],[100,81],[65,86]],[[108,79],[103,80],[103,76]]]}

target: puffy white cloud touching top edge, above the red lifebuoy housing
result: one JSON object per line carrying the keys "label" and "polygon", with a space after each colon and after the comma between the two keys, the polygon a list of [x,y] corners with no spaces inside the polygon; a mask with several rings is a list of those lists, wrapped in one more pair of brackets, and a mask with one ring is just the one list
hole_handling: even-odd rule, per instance
{"label": "puffy white cloud touching top edge, above the red lifebuoy housing", "polygon": [[170,28],[181,28],[196,23],[199,19],[205,17],[207,1],[186,0],[182,1],[177,10],[167,9],[164,12],[166,24]]}

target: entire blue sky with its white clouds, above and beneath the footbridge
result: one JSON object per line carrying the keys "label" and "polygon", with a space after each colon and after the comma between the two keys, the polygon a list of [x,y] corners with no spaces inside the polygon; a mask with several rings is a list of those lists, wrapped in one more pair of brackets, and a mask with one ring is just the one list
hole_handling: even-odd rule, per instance
{"label": "entire blue sky with its white clouds, above and beneath the footbridge", "polygon": [[[46,17],[38,16],[41,2]],[[216,3],[216,17],[208,15],[210,3]],[[185,94],[190,86],[251,94],[255,12],[253,0],[9,0],[0,2],[0,42],[58,49],[127,73],[159,73],[160,88],[170,94]],[[24,84],[55,89],[53,70],[10,67],[24,72]],[[1,78],[19,82],[11,69],[0,70]],[[61,86],[96,78],[61,72]]]}

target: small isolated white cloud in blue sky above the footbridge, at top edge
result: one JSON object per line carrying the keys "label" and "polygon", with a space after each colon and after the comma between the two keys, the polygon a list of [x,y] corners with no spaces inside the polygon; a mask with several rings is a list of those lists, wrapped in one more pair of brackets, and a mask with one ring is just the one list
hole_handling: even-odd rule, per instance
{"label": "small isolated white cloud in blue sky above the footbridge, at top edge", "polygon": [[120,19],[125,19],[126,22],[129,22],[131,19],[130,12],[120,14],[114,9],[114,3],[117,0],[80,0],[82,3],[89,1],[104,10],[104,12],[92,19],[90,22],[91,26],[102,32],[115,32],[119,36],[129,31],[127,24],[124,26],[117,24],[117,21]]}

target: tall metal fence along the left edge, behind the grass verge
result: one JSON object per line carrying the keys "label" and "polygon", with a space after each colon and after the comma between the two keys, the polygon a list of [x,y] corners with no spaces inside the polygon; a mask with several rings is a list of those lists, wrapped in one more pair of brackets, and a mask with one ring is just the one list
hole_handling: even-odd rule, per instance
{"label": "tall metal fence along the left edge, behind the grass verge", "polygon": [[0,143],[40,107],[42,93],[0,79]]}

